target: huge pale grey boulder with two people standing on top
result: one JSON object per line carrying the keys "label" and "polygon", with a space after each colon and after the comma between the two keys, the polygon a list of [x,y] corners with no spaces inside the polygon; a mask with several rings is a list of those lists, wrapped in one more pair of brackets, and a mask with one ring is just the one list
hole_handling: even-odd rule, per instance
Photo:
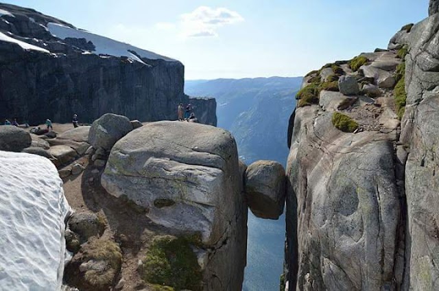
{"label": "huge pale grey boulder with two people standing on top", "polygon": [[201,234],[213,250],[203,265],[206,290],[241,290],[247,207],[240,180],[229,132],[180,121],[128,133],[112,147],[101,178],[109,194],[145,208],[156,224]]}

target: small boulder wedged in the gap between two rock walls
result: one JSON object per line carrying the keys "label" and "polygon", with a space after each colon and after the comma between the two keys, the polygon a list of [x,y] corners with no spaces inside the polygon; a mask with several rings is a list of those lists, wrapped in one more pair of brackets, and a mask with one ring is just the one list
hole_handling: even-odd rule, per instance
{"label": "small boulder wedged in the gap between two rock walls", "polygon": [[246,170],[248,207],[259,218],[278,219],[285,205],[285,170],[275,161],[256,161]]}

